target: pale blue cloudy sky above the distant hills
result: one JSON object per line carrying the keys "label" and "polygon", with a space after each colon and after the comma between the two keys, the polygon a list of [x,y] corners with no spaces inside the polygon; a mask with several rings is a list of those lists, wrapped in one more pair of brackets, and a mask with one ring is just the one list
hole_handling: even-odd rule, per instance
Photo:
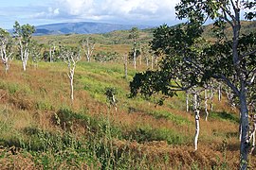
{"label": "pale blue cloudy sky above the distant hills", "polygon": [[179,23],[179,0],[0,0],[0,27],[98,22],[160,26]]}

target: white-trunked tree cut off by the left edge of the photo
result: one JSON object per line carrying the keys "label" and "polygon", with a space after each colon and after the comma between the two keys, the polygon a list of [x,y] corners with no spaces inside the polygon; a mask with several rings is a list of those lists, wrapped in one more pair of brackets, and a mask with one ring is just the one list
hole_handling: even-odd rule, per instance
{"label": "white-trunked tree cut off by the left edge of the photo", "polygon": [[5,72],[9,71],[9,63],[13,59],[11,49],[11,37],[9,32],[5,29],[0,28],[0,55],[3,64],[5,65]]}

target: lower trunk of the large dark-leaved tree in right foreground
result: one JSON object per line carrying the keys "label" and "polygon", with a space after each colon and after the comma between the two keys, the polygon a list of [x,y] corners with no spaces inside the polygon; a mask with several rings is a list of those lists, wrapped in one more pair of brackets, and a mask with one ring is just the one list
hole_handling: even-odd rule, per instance
{"label": "lower trunk of the large dark-leaved tree in right foreground", "polygon": [[247,110],[247,96],[246,91],[242,90],[239,96],[240,100],[240,111],[241,111],[241,127],[242,127],[242,136],[240,144],[240,169],[247,169],[247,154],[249,148],[248,142],[248,110]]}

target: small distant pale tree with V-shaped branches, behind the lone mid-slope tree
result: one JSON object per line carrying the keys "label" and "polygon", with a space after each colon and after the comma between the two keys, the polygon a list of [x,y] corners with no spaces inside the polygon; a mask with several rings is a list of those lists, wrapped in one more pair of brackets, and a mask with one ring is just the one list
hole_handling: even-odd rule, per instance
{"label": "small distant pale tree with V-shaped branches, behind the lone mid-slope tree", "polygon": [[82,39],[81,44],[87,61],[90,62],[95,47],[95,41],[92,40],[91,37],[86,37],[85,39]]}

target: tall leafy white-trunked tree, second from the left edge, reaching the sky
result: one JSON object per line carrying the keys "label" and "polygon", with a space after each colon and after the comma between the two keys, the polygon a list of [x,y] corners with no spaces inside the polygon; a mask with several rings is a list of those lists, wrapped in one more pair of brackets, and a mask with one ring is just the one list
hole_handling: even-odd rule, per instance
{"label": "tall leafy white-trunked tree, second from the left edge, reaching the sky", "polygon": [[20,56],[23,64],[23,70],[26,71],[27,59],[29,56],[29,43],[31,41],[32,34],[35,32],[35,27],[30,25],[23,25],[16,21],[14,28],[14,36],[18,41],[18,47],[20,50]]}

